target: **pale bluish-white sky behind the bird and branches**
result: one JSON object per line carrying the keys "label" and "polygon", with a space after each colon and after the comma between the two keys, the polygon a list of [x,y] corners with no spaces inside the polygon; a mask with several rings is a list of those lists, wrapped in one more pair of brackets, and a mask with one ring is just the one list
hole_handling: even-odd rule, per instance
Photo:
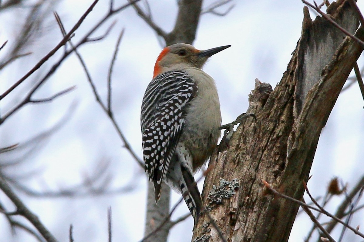
{"label": "pale bluish-white sky behind the bird and branches", "polygon": [[[91,2],[61,0],[54,10],[58,12],[66,30],[70,30]],[[125,3],[126,1],[116,0],[115,6]],[[203,6],[211,3],[213,1],[206,0]],[[300,37],[304,6],[299,0],[236,0],[233,3],[235,7],[225,17],[203,15],[194,42],[198,49],[232,45],[213,56],[204,67],[206,73],[216,81],[224,124],[246,111],[248,94],[254,88],[255,78],[268,82],[273,87],[280,81]],[[175,21],[176,1],[150,0],[149,4],[154,21],[165,31],[170,31]],[[359,6],[361,9],[364,7],[362,2]],[[74,42],[94,26],[107,9],[108,1],[100,0],[76,31]],[[222,8],[224,9],[226,7]],[[9,40],[10,46],[15,41],[26,11],[24,8],[0,12],[0,45]],[[315,17],[313,12],[311,17]],[[117,24],[106,39],[84,45],[79,52],[86,60],[105,102],[108,66],[117,36],[125,28],[112,76],[112,108],[132,149],[141,157],[140,106],[146,86],[153,75],[155,59],[162,47],[153,30],[132,8],[120,12],[107,23],[110,24],[113,20],[117,20]],[[1,93],[31,69],[62,38],[53,15],[47,18],[46,25],[43,37],[28,48],[33,54],[12,63],[0,73]],[[98,33],[102,34],[106,26]],[[0,52],[0,58],[6,51],[7,48],[4,48]],[[42,77],[62,53],[63,49],[59,50],[32,78],[5,98],[0,104],[1,114],[19,102],[37,77]],[[363,61],[360,61],[359,66],[362,65]],[[51,103],[27,105],[0,126],[0,147],[22,144],[54,127],[67,113],[71,113],[67,122],[63,122],[64,125],[51,136],[37,140],[36,152],[28,155],[26,149],[19,148],[14,152],[0,154],[0,161],[24,159],[25,154],[23,163],[9,167],[5,172],[23,177],[23,184],[38,191],[57,190],[79,184],[85,174],[90,175],[100,169],[100,161],[109,162],[107,173],[112,176],[110,189],[134,183],[133,190],[106,196],[58,199],[29,197],[20,192],[18,194],[59,241],[68,241],[71,223],[74,226],[75,241],[107,241],[109,206],[112,208],[113,241],[139,241],[143,238],[144,230],[146,175],[122,147],[122,141],[110,120],[96,103],[84,71],[74,54],[37,91],[36,97],[49,97],[74,85],[77,88],[70,94]],[[308,186],[315,197],[325,193],[332,177],[339,176],[351,189],[363,175],[363,106],[357,84],[339,96],[320,137],[311,170],[312,179]],[[37,173],[27,176],[32,172]],[[200,186],[202,190],[202,183]],[[173,192],[171,206],[179,197],[179,194]],[[327,207],[328,210],[334,212],[342,199],[343,196],[334,198]],[[12,210],[12,204],[2,193],[0,202]],[[187,212],[183,203],[173,218]],[[363,222],[363,213],[357,213],[353,217],[352,226],[363,225]],[[308,216],[302,213],[293,226],[289,241],[303,241],[311,226]],[[190,241],[192,227],[193,219],[190,217],[171,230],[169,241]],[[340,231],[341,227],[338,227],[333,234],[335,238],[339,237]],[[4,216],[0,216],[0,234],[0,242],[34,241],[21,230],[16,230],[16,235],[12,236]],[[344,241],[362,241],[350,231],[345,236]]]}

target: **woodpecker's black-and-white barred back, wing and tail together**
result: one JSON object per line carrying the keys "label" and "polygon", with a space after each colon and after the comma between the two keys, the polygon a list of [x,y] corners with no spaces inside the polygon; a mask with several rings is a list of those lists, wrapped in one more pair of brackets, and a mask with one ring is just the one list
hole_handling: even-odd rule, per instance
{"label": "woodpecker's black-and-white barred back, wing and tail together", "polygon": [[202,207],[201,195],[193,178],[192,157],[178,141],[185,109],[197,91],[185,71],[167,71],[149,83],[141,109],[144,167],[154,184],[155,201],[166,179],[172,188],[180,190],[195,221]]}

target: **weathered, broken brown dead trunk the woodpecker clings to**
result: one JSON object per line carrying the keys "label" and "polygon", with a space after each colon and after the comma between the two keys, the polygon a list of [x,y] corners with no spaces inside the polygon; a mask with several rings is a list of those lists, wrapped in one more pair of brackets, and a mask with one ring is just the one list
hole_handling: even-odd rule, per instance
{"label": "weathered, broken brown dead trunk the woodpecker clings to", "polygon": [[[364,39],[348,1],[332,3],[327,12]],[[304,7],[301,38],[280,83],[269,95],[269,87],[256,82],[248,113],[257,120],[242,122],[229,147],[220,145],[210,159],[202,192],[208,214],[199,218],[194,242],[222,241],[209,216],[226,241],[288,241],[299,206],[266,194],[261,179],[302,198],[321,130],[362,51],[327,20],[312,21]]]}

